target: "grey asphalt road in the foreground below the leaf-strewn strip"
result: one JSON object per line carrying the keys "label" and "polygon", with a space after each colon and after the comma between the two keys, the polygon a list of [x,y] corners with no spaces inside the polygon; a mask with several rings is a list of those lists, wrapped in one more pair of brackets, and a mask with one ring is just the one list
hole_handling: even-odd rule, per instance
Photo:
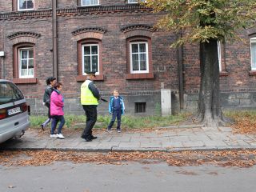
{"label": "grey asphalt road in the foreground below the leaf-strewn strip", "polygon": [[256,189],[256,166],[168,166],[55,162],[50,166],[0,166],[1,192],[174,191],[246,192]]}

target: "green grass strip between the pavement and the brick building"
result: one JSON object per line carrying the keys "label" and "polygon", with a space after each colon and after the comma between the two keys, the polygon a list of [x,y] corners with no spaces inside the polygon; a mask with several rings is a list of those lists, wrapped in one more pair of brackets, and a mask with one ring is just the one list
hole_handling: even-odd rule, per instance
{"label": "green grass strip between the pavement and the brick building", "polygon": [[[122,128],[125,129],[142,129],[142,128],[154,128],[154,127],[164,127],[177,125],[179,122],[185,121],[188,117],[188,114],[175,114],[166,117],[161,116],[147,116],[147,117],[134,117],[130,115],[122,116]],[[43,115],[31,115],[30,123],[31,127],[40,128],[40,125],[45,122],[47,119]],[[84,128],[86,123],[85,115],[65,115],[66,124],[65,126],[70,129],[76,129],[78,127]],[[98,115],[98,120],[94,128],[106,128],[110,123],[111,115]],[[116,122],[113,127],[116,127]]]}

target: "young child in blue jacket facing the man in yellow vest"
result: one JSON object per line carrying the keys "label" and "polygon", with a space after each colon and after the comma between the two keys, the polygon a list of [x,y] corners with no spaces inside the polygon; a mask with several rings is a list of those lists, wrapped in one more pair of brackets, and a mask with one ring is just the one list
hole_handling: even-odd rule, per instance
{"label": "young child in blue jacket facing the man in yellow vest", "polygon": [[123,98],[119,96],[119,91],[113,91],[114,96],[110,97],[109,103],[109,112],[112,114],[112,118],[110,121],[109,126],[107,126],[106,131],[110,132],[112,126],[114,125],[115,118],[118,119],[118,133],[121,132],[121,116],[124,114],[125,111],[125,103],[123,102]]}

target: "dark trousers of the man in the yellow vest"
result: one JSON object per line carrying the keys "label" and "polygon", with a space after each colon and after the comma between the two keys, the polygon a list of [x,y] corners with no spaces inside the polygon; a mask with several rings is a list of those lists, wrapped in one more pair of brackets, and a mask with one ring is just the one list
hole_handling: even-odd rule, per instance
{"label": "dark trousers of the man in the yellow vest", "polygon": [[84,138],[90,138],[92,136],[92,129],[97,121],[97,106],[85,106],[83,105],[83,110],[86,112],[86,128],[82,132]]}

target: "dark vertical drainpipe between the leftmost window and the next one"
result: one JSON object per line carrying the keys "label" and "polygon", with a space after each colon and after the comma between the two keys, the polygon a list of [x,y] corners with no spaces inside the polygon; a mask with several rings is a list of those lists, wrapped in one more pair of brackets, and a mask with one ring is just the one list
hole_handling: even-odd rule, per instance
{"label": "dark vertical drainpipe between the leftmost window and the next one", "polygon": [[53,6],[53,71],[54,78],[58,78],[58,34],[57,34],[57,0],[52,0]]}

